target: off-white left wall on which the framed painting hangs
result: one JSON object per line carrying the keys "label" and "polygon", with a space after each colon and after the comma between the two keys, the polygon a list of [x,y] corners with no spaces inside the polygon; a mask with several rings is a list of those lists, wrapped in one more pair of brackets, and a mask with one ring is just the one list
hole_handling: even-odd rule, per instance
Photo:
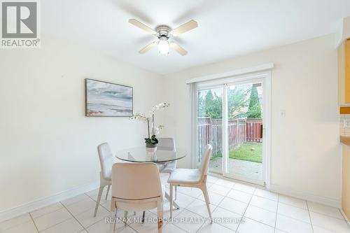
{"label": "off-white left wall on which the framed painting hangs", "polygon": [[99,179],[97,145],[143,144],[129,118],[86,118],[84,78],[134,87],[134,112],[158,104],[162,77],[88,48],[43,38],[0,51],[0,212]]}

